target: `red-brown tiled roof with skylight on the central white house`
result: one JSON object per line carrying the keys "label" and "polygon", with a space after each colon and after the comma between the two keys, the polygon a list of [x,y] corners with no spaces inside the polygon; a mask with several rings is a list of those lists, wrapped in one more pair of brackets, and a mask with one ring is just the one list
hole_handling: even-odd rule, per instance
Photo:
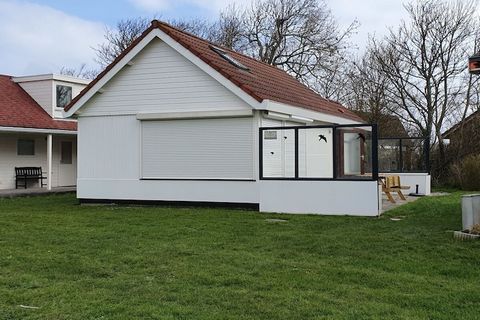
{"label": "red-brown tiled roof with skylight on the central white house", "polygon": [[320,95],[300,83],[285,71],[268,65],[256,59],[250,58],[238,52],[221,48],[235,60],[248,67],[249,71],[235,67],[211,49],[212,43],[192,34],[176,29],[164,22],[152,21],[152,25],[142,33],[120,56],[117,57],[98,77],[93,80],[65,110],[69,110],[98,80],[113,68],[138,42],[150,31],[158,28],[165,32],[180,45],[199,57],[213,69],[233,82],[244,92],[261,102],[265,99],[298,106],[313,111],[318,111],[350,120],[363,122],[355,113],[343,107],[341,104],[322,98]]}

